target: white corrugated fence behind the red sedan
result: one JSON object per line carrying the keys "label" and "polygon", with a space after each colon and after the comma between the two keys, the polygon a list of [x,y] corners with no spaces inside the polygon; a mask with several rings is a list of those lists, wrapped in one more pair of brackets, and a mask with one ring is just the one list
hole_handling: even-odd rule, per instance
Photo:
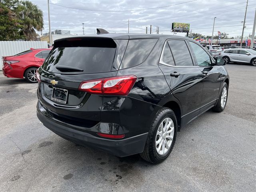
{"label": "white corrugated fence behind the red sedan", "polygon": [[48,48],[47,41],[0,41],[0,70],[2,70],[2,56],[12,56],[30,48]]}

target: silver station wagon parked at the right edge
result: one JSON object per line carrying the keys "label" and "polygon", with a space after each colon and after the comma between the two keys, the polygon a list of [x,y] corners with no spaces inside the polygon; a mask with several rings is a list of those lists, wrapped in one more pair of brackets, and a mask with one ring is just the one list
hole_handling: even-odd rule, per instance
{"label": "silver station wagon parked at the right edge", "polygon": [[252,49],[226,49],[219,54],[218,58],[225,59],[226,63],[250,63],[256,66],[256,51]]}

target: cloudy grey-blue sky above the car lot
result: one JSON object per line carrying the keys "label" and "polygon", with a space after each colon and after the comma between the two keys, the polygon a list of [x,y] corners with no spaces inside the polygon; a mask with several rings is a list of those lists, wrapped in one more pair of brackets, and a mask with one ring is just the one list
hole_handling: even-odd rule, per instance
{"label": "cloudy grey-blue sky above the car lot", "polygon": [[[47,0],[31,1],[43,10],[43,33],[48,32]],[[52,31],[70,30],[72,34],[82,34],[82,23],[85,34],[94,34],[96,28],[127,33],[129,20],[130,33],[145,33],[152,24],[152,33],[159,26],[160,34],[173,34],[172,22],[183,22],[190,23],[192,32],[211,35],[217,17],[214,34],[226,32],[231,37],[242,34],[245,8],[246,0],[50,0],[50,18]],[[255,8],[256,0],[249,0],[245,36],[252,33]]]}

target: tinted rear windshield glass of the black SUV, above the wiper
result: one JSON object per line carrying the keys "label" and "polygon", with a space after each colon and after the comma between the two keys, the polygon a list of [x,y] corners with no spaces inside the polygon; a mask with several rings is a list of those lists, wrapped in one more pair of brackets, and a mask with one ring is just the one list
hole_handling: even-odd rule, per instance
{"label": "tinted rear windshield glass of the black SUV, above the wiper", "polygon": [[79,74],[109,72],[115,52],[116,48],[108,47],[57,47],[50,52],[42,69],[54,73],[68,73],[57,69],[61,66],[83,70]]}

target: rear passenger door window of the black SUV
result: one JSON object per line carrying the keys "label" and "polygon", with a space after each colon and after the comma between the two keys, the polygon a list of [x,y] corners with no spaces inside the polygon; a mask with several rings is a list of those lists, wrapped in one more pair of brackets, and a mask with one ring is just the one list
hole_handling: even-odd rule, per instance
{"label": "rear passenger door window of the black SUV", "polygon": [[169,40],[176,66],[193,66],[188,46],[184,40]]}

